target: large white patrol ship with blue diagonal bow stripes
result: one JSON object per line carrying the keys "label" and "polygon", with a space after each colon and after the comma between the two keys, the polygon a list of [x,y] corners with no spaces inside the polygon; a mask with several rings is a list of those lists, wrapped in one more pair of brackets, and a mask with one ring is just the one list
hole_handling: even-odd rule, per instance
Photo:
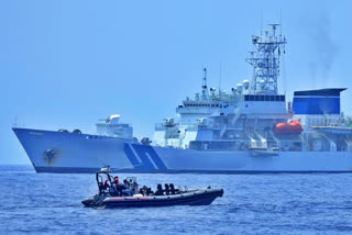
{"label": "large white patrol ship with blue diagonal bow stripes", "polygon": [[340,111],[343,88],[279,94],[279,58],[286,38],[278,24],[246,61],[253,77],[231,92],[207,87],[155,125],[153,142],[133,137],[111,115],[96,134],[13,127],[37,172],[94,172],[103,166],[129,172],[352,172],[351,119]]}

